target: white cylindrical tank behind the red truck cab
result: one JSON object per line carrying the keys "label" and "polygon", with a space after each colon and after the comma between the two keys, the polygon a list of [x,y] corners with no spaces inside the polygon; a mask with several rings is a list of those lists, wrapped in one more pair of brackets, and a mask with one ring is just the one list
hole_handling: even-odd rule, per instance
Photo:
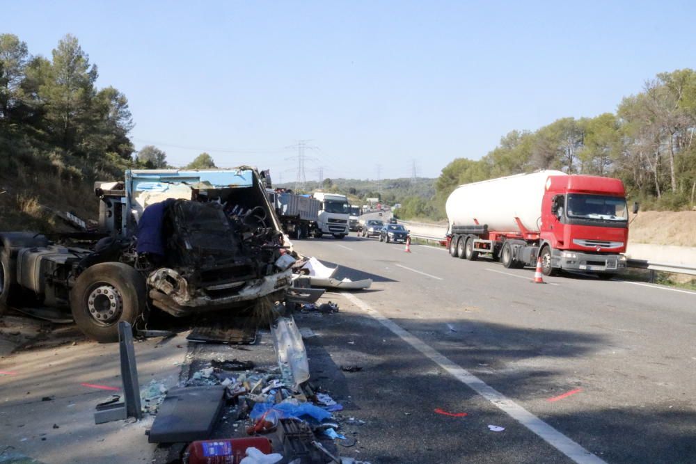
{"label": "white cylindrical tank behind the red truck cab", "polygon": [[538,231],[541,200],[551,175],[567,174],[543,170],[458,186],[445,203],[450,230],[452,226],[475,225],[476,220],[488,225],[488,230],[518,231],[515,218],[519,218],[528,230]]}

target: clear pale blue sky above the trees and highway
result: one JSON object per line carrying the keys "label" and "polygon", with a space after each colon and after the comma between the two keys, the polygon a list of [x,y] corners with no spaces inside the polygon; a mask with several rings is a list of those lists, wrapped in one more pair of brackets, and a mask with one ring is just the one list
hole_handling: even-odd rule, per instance
{"label": "clear pale blue sky above the trees and highway", "polygon": [[696,2],[17,1],[0,32],[50,56],[65,33],[129,99],[136,147],[176,165],[308,179],[436,177],[512,129],[614,111],[696,67]]}

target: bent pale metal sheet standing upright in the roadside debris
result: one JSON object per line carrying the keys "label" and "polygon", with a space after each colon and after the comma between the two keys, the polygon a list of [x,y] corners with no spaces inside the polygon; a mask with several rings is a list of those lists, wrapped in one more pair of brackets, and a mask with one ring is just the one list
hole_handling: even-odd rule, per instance
{"label": "bent pale metal sheet standing upright in the roadside debris", "polygon": [[302,335],[292,316],[279,317],[272,323],[271,335],[280,374],[288,384],[300,390],[300,385],[309,380],[309,361]]}

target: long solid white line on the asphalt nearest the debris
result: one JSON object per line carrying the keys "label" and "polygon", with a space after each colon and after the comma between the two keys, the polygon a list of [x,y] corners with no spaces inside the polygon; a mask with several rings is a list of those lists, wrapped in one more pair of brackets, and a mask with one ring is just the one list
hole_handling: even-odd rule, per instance
{"label": "long solid white line on the asphalt nearest the debris", "polygon": [[477,376],[471,374],[466,369],[459,367],[459,365],[455,364],[449,358],[436,351],[434,348],[432,348],[432,346],[425,344],[425,342],[422,342],[422,340],[418,337],[406,332],[406,330],[402,329],[391,319],[384,317],[377,310],[373,310],[372,307],[367,305],[367,303],[362,301],[360,298],[346,292],[343,292],[341,295],[345,296],[345,298],[351,301],[351,303],[354,303],[354,305],[360,307],[361,310],[367,312],[367,314],[370,314],[371,317],[377,319],[379,323],[391,330],[393,333],[395,333],[395,335],[398,335],[402,340],[404,340],[404,342],[413,346],[413,348],[420,351],[427,356],[427,358],[430,358],[437,365],[448,371],[452,376],[454,376],[454,378],[457,378],[458,381],[470,387],[472,390],[493,403],[493,405],[497,406],[500,410],[503,410],[503,412],[507,413],[507,415],[515,419],[533,433],[537,434],[542,440],[571,458],[576,463],[599,464],[605,462],[594,454],[590,453],[590,451],[587,451],[587,449],[578,445],[578,443],[574,442],[566,435],[563,435],[552,426],[546,424],[546,422],[539,419],[539,417],[533,415],[522,406],[519,406],[519,404],[505,397],[505,395],[498,392],[498,390],[495,390],[493,387],[487,385],[487,383],[484,383],[484,381]]}

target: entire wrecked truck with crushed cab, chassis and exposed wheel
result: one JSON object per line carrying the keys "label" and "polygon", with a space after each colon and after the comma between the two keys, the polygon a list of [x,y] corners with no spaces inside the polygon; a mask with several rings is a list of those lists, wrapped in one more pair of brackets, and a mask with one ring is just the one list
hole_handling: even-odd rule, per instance
{"label": "entire wrecked truck with crushed cab, chassis and exposed wheel", "polygon": [[70,312],[88,337],[115,342],[119,321],[142,328],[154,308],[182,317],[284,301],[294,259],[265,189],[246,166],[97,182],[98,232],[0,232],[0,314]]}

